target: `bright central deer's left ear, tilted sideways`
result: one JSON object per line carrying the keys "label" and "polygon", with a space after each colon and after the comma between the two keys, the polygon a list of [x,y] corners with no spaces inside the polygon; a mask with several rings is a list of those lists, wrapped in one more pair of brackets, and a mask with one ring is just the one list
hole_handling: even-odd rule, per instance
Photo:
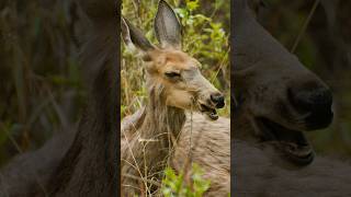
{"label": "bright central deer's left ear, tilted sideways", "polygon": [[121,25],[122,38],[128,47],[135,46],[144,53],[155,49],[150,42],[143,35],[141,31],[123,16]]}

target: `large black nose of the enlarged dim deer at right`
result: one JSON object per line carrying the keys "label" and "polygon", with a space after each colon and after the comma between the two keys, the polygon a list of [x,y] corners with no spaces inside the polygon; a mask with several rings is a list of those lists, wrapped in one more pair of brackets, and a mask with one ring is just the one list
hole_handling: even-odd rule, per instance
{"label": "large black nose of the enlarged dim deer at right", "polygon": [[309,130],[325,128],[332,121],[332,94],[329,89],[291,89],[290,99],[296,109],[308,113],[305,121]]}

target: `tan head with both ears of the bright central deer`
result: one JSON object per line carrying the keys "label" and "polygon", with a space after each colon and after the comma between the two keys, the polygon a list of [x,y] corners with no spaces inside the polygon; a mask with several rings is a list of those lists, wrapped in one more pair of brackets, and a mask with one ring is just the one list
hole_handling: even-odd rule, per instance
{"label": "tan head with both ears of the bright central deer", "polygon": [[147,86],[159,90],[166,105],[218,118],[216,108],[224,107],[224,96],[201,74],[201,63],[181,50],[181,26],[169,4],[161,0],[155,18],[160,47],[151,45],[127,20],[122,19],[122,24],[124,42],[138,48],[146,62]]}

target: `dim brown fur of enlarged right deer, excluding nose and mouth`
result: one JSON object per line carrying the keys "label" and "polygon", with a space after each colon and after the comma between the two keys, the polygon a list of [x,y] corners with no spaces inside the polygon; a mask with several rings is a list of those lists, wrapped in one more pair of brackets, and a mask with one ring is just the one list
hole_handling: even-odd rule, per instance
{"label": "dim brown fur of enlarged right deer, excluding nose and mouth", "polygon": [[309,92],[328,88],[256,22],[247,0],[233,4],[231,79],[238,100],[233,123],[233,190],[248,197],[350,196],[349,162],[317,157],[309,165],[296,165],[276,149],[275,141],[262,138],[257,117],[302,134],[308,129],[291,102],[290,90],[297,89],[294,93],[298,94],[306,88]]}

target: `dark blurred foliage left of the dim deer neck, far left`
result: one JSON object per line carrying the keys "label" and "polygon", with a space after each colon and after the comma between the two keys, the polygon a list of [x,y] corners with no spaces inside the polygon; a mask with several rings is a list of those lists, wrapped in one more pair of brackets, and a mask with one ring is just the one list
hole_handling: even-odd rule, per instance
{"label": "dark blurred foliage left of the dim deer neck, far left", "polygon": [[0,165],[77,121],[77,18],[71,0],[0,2]]}

